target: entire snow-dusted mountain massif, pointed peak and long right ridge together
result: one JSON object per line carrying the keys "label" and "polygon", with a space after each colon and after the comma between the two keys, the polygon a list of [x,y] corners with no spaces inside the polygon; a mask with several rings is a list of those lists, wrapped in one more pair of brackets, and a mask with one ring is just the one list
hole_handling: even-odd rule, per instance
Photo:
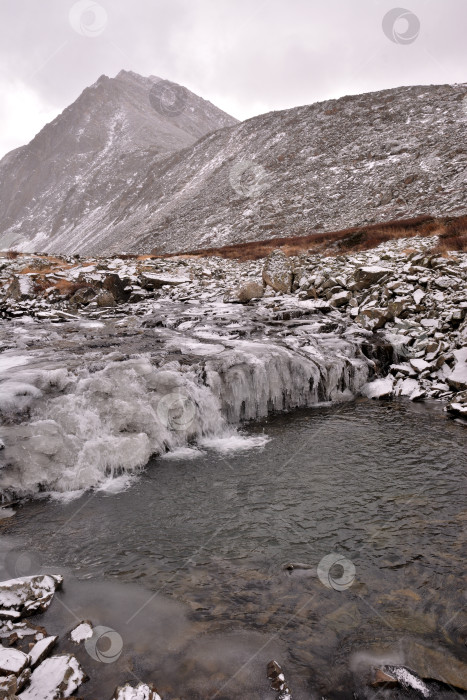
{"label": "entire snow-dusted mountain massif, pointed peak and long right ridge together", "polygon": [[0,162],[0,248],[179,252],[465,214],[466,92],[402,87],[238,124],[174,83],[102,76]]}

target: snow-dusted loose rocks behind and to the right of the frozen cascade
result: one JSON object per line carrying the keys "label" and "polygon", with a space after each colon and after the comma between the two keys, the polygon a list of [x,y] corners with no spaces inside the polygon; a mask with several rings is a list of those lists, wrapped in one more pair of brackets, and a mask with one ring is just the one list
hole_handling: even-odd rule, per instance
{"label": "snow-dusted loose rocks behind and to the right of the frozen cascade", "polygon": [[201,340],[274,337],[301,355],[313,354],[310,334],[339,329],[369,359],[374,376],[364,394],[440,399],[465,416],[467,254],[434,254],[436,243],[395,240],[346,256],[286,258],[275,251],[266,261],[242,263],[4,254],[0,313],[62,327],[118,318],[122,334],[136,324]]}

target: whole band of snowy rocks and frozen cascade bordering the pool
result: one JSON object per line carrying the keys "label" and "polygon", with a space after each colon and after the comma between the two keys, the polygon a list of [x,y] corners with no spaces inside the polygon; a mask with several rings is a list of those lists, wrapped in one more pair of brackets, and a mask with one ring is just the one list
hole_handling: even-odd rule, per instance
{"label": "whole band of snowy rocks and frozen cascade bordering the pool", "polygon": [[[55,272],[5,259],[4,496],[131,478],[151,455],[226,444],[244,420],[360,392],[466,415],[467,255],[434,254],[436,242],[243,263],[70,259]],[[41,274],[42,294],[15,282]],[[73,284],[91,291],[77,299]]]}

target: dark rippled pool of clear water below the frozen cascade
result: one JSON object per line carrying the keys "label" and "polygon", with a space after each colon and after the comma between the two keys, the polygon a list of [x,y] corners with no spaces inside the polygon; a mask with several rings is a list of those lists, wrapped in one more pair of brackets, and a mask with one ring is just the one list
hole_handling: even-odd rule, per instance
{"label": "dark rippled pool of clear water below the frozen cascade", "polygon": [[[125,492],[30,502],[1,521],[4,548],[70,571],[41,616],[49,634],[86,618],[121,635],[115,663],[79,652],[80,697],[142,678],[168,698],[275,698],[271,658],[296,700],[373,697],[375,659],[459,685],[465,427],[359,401],[248,428],[263,431],[261,451],[154,460]],[[332,552],[350,564],[326,587],[316,569]],[[352,585],[335,590],[343,573]]]}

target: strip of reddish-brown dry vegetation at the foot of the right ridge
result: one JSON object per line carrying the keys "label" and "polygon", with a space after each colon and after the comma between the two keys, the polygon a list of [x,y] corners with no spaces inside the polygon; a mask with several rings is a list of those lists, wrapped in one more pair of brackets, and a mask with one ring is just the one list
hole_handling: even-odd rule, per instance
{"label": "strip of reddish-brown dry vegetation at the foot of the right ridge", "polygon": [[[440,237],[436,252],[467,250],[467,216],[435,218],[418,216],[413,219],[398,219],[382,224],[355,226],[342,231],[312,233],[291,238],[270,238],[251,243],[240,243],[221,248],[184,251],[183,255],[195,257],[220,256],[237,260],[257,260],[266,257],[272,250],[280,248],[286,255],[304,253],[342,255],[376,248],[380,243],[414,236]],[[159,257],[173,257],[161,255]]]}

